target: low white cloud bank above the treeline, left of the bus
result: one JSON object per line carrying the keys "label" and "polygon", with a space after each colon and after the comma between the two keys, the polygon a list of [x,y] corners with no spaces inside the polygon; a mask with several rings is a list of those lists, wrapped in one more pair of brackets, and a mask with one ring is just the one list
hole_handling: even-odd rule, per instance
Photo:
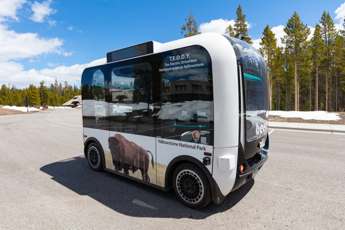
{"label": "low white cloud bank above the treeline, left of the bus", "polygon": [[67,81],[69,84],[80,85],[81,74],[88,64],[75,64],[72,66],[61,65],[55,68],[44,68],[41,70],[24,70],[23,65],[15,61],[0,62],[0,84],[10,82],[18,88],[28,87],[29,84],[39,85],[44,80],[51,84],[58,79],[58,82]]}

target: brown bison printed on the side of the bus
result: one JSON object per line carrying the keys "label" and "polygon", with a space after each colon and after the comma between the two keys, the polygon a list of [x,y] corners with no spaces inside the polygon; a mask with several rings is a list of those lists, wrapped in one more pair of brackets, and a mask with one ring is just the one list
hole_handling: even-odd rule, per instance
{"label": "brown bison printed on the side of the bus", "polygon": [[115,134],[108,138],[109,149],[112,154],[115,171],[119,172],[123,169],[123,173],[128,175],[129,170],[133,173],[137,170],[141,171],[144,181],[150,182],[147,174],[150,163],[151,154],[152,167],[154,167],[153,155],[150,151],[143,149],[133,141],[128,141],[121,134]]}

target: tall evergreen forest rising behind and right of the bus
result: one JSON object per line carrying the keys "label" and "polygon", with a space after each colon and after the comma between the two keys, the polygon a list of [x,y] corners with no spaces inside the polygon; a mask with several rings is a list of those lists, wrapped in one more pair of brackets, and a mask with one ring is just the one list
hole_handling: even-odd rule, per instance
{"label": "tall evergreen forest rising behind and right of the bus", "polygon": [[[238,5],[233,27],[224,28],[224,33],[252,44],[245,17]],[[201,33],[191,11],[185,21],[184,37]],[[337,30],[330,13],[324,11],[311,26],[313,33],[294,12],[284,28],[284,47],[277,45],[269,25],[263,29],[259,52],[267,67],[270,110],[345,111],[345,18],[343,28]]]}

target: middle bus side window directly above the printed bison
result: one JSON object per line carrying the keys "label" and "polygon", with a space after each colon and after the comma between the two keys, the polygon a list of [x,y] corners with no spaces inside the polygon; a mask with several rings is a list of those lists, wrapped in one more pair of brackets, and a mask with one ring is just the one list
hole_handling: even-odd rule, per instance
{"label": "middle bus side window directly above the printed bison", "polygon": [[154,136],[152,67],[140,58],[108,66],[111,131]]}

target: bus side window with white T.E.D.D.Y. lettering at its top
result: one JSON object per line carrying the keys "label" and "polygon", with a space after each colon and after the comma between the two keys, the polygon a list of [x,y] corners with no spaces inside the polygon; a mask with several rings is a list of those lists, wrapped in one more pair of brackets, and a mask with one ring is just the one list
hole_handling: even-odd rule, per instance
{"label": "bus side window with white T.E.D.D.Y. lettering at its top", "polygon": [[157,136],[213,145],[212,64],[208,52],[192,46],[164,52],[161,59],[156,57],[161,79]]}

